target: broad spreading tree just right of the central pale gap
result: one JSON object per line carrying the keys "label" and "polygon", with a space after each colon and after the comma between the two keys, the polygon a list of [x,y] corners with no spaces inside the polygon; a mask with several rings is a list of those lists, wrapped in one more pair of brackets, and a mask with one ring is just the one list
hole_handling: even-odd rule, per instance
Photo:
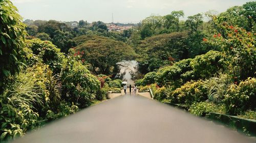
{"label": "broad spreading tree just right of the central pale gap", "polygon": [[[170,65],[173,58],[182,59],[185,33],[161,34],[146,38],[136,47],[136,58],[142,73],[157,70],[164,65]],[[186,53],[185,53],[186,54]]]}

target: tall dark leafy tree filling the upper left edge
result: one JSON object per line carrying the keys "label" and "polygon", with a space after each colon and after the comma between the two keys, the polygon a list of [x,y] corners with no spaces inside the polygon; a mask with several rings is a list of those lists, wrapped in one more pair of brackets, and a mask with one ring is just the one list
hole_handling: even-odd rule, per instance
{"label": "tall dark leafy tree filling the upper left edge", "polygon": [[25,24],[9,0],[0,1],[0,93],[4,80],[24,64]]}

